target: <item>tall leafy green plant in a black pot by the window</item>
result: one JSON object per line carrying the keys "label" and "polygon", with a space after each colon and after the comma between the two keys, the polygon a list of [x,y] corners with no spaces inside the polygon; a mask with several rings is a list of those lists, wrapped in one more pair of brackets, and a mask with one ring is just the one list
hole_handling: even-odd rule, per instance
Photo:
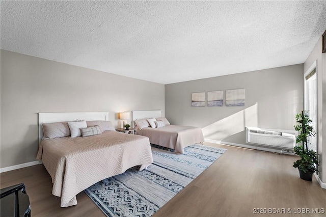
{"label": "tall leafy green plant in a black pot by the window", "polygon": [[294,147],[294,153],[300,156],[300,159],[293,162],[293,167],[297,168],[300,173],[300,178],[311,181],[312,175],[317,171],[318,160],[317,153],[308,148],[308,137],[314,137],[315,131],[311,126],[311,120],[308,115],[308,111],[302,111],[295,115],[294,129],[298,131],[296,137],[297,145]]}

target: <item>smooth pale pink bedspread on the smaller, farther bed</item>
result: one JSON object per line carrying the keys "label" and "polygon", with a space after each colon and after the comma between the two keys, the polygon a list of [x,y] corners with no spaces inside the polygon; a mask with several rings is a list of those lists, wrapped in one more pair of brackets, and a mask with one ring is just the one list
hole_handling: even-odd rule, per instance
{"label": "smooth pale pink bedspread on the smaller, farther bed", "polygon": [[191,126],[166,125],[165,127],[145,127],[139,135],[149,138],[151,144],[172,148],[176,153],[183,153],[183,148],[204,142],[202,129]]}

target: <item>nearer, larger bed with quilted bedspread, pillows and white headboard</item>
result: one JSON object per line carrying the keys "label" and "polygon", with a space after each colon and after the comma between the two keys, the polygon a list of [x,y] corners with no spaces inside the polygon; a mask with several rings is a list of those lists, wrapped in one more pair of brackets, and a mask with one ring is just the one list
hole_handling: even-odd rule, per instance
{"label": "nearer, larger bed with quilted bedspread, pillows and white headboard", "polygon": [[61,207],[76,205],[76,195],[98,181],[153,162],[149,139],[115,131],[108,112],[39,113],[39,140],[37,159]]}

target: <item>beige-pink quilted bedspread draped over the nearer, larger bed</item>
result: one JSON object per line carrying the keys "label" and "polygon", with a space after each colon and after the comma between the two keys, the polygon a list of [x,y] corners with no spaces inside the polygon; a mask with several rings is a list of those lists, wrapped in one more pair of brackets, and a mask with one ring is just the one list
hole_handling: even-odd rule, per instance
{"label": "beige-pink quilted bedspread draped over the nearer, larger bed", "polygon": [[52,177],[52,194],[61,197],[61,207],[76,205],[76,195],[98,181],[153,162],[147,137],[116,131],[43,140],[37,159]]}

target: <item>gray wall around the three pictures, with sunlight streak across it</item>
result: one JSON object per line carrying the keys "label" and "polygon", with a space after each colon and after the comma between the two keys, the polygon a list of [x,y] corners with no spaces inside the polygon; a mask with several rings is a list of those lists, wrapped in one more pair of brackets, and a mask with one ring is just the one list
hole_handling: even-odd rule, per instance
{"label": "gray wall around the three pictures, with sunlight streak across it", "polygon": [[[191,95],[246,90],[245,106],[192,107]],[[202,127],[205,139],[246,144],[245,126],[294,130],[303,108],[303,64],[193,80],[165,86],[166,117],[172,124]]]}

